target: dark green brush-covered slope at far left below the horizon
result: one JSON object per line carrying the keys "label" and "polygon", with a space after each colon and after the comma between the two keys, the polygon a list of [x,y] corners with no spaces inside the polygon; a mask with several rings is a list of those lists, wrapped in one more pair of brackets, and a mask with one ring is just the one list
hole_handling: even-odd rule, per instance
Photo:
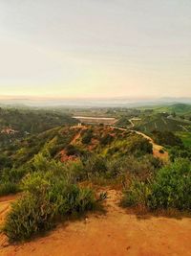
{"label": "dark green brush-covered slope at far left below the horizon", "polygon": [[29,134],[61,125],[74,125],[77,121],[65,113],[45,110],[0,108],[0,147],[12,145]]}

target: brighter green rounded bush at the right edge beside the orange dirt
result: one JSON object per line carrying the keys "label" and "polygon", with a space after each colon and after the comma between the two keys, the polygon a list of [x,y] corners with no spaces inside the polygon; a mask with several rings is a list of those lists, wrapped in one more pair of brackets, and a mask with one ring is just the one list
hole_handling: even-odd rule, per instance
{"label": "brighter green rounded bush at the right edge beside the orange dirt", "polygon": [[159,170],[149,198],[150,208],[191,209],[191,163],[178,159]]}

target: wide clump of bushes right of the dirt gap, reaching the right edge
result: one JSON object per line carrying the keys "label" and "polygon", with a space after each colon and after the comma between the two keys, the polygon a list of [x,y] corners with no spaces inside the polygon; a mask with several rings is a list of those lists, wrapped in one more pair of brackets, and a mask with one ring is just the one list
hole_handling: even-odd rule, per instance
{"label": "wide clump of bushes right of the dirt gap, reaching the right edge", "polygon": [[124,206],[141,205],[151,210],[177,208],[191,209],[191,163],[177,159],[157,173],[152,182],[135,179],[125,190]]}

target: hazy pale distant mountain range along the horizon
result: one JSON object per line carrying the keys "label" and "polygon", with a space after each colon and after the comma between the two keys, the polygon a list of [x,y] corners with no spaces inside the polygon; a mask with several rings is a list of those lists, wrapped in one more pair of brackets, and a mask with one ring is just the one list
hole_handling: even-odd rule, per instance
{"label": "hazy pale distant mountain range along the horizon", "polygon": [[189,104],[191,98],[159,98],[159,99],[32,99],[32,98],[1,98],[0,105],[7,106],[36,106],[36,107],[58,107],[58,106],[80,106],[80,107],[138,107],[149,105],[173,105]]}

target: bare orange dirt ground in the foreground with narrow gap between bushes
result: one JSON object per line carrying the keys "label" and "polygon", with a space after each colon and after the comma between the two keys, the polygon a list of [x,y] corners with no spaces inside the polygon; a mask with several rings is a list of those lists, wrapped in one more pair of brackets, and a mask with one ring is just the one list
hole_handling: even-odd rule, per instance
{"label": "bare orange dirt ground in the foreground with narrow gap between bushes", "polygon": [[46,237],[30,243],[6,245],[6,238],[1,235],[0,255],[191,255],[191,219],[138,219],[118,206],[120,196],[119,192],[109,190],[105,215],[90,214],[81,221],[62,224]]}

